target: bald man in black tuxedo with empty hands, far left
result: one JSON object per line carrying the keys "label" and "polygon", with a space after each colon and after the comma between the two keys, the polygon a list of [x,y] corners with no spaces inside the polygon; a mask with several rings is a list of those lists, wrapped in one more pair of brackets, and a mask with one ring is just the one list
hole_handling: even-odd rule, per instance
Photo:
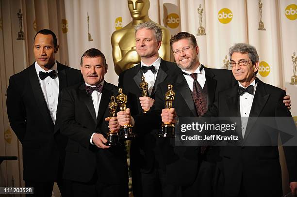
{"label": "bald man in black tuxedo with empty hands, far left", "polygon": [[68,185],[62,181],[66,137],[60,134],[60,93],[80,83],[79,70],[55,60],[59,45],[51,30],[40,30],[34,38],[35,62],[11,76],[7,89],[10,125],[23,146],[23,179],[34,187],[35,196],[51,196],[54,182],[62,195]]}

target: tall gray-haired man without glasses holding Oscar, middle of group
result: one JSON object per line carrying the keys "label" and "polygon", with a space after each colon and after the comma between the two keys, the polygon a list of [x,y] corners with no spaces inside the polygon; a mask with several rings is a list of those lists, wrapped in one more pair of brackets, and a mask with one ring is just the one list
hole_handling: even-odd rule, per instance
{"label": "tall gray-haired man without glasses holding Oscar, middle of group", "polygon": [[[175,63],[160,58],[158,50],[162,42],[162,30],[153,22],[145,22],[135,27],[136,52],[141,63],[119,75],[118,87],[127,94],[132,115],[142,114],[154,103],[158,85],[178,71]],[[145,76],[148,83],[148,96],[142,96],[139,84]],[[144,125],[136,129],[138,135],[132,139],[130,164],[132,170],[132,189],[135,197],[152,197],[161,193],[161,176],[156,162],[157,130],[152,131]]]}

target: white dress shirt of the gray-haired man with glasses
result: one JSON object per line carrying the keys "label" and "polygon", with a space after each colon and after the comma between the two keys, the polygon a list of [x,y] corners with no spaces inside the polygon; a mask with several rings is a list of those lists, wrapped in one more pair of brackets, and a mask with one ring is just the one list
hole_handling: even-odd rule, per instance
{"label": "white dress shirt of the gray-haired man with glasses", "polygon": [[[249,85],[254,86],[253,94],[244,92],[243,94],[241,94],[239,96],[239,106],[240,106],[240,116],[241,117],[249,117],[250,109],[253,104],[253,100],[254,100],[254,96],[255,96],[255,92],[256,92],[256,88],[257,88],[257,84],[255,84],[255,82],[256,81],[254,80],[253,82],[251,82],[251,84],[249,84]],[[239,85],[239,87],[243,87],[240,84],[240,82],[238,82],[238,85]],[[243,87],[243,88],[245,88],[245,87]],[[247,121],[248,121],[248,118],[241,119],[241,133],[242,133],[243,138],[245,136],[246,129],[247,129]]]}

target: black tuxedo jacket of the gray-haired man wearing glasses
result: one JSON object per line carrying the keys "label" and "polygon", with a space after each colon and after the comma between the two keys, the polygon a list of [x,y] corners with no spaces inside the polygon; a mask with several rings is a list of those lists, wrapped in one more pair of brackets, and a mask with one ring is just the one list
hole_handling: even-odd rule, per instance
{"label": "black tuxedo jacket of the gray-haired man wearing glasses", "polygon": [[[258,79],[257,79],[258,80]],[[258,80],[249,117],[291,117],[282,103],[285,91]],[[215,115],[215,114],[213,114]],[[218,95],[217,115],[240,117],[238,84]],[[294,121],[291,128],[295,128]],[[259,135],[257,119],[249,119],[241,146],[220,147],[221,184],[228,196],[238,195],[245,188],[247,196],[282,196],[281,166],[278,146],[246,146]],[[288,127],[289,128],[289,127]],[[263,131],[264,133],[264,131]],[[277,138],[278,134],[276,134]],[[283,146],[290,182],[297,181],[296,147]],[[295,149],[295,150],[294,150]],[[269,188],[267,190],[267,188]]]}

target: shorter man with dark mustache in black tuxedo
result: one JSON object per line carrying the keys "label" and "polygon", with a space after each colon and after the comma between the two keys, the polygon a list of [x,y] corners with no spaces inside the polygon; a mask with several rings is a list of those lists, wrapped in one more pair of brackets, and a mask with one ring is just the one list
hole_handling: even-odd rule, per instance
{"label": "shorter man with dark mustache in black tuxedo", "polygon": [[74,197],[128,196],[125,147],[104,145],[108,128],[117,131],[119,124],[115,117],[108,118],[111,96],[118,93],[104,81],[103,53],[95,48],[85,51],[81,71],[84,82],[62,92],[61,133],[69,138],[64,178],[71,181]]}

